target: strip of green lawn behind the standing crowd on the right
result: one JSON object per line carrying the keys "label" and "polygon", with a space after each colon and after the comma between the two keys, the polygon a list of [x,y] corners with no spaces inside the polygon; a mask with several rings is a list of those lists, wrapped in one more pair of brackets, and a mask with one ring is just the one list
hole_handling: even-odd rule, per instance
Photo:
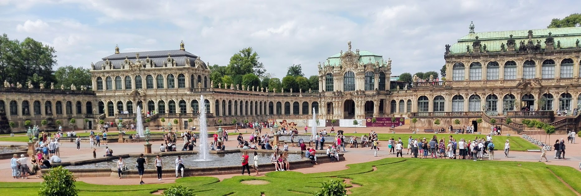
{"label": "strip of green lawn behind the standing crowd on the right", "polygon": [[[357,136],[357,137],[361,137],[362,135],[368,135],[368,133],[345,133],[345,137],[347,136]],[[403,133],[378,133],[377,136],[379,138],[379,141],[388,141],[390,138],[393,138],[394,140],[397,141],[398,137],[401,137],[401,141],[403,141],[403,148],[404,150],[407,148],[407,140],[410,136],[412,136],[414,139],[424,139],[424,137],[429,141],[429,139],[431,139],[434,135],[437,136],[438,140],[440,139],[444,139],[444,143],[448,142],[448,138],[449,136],[454,137],[454,139],[456,139],[456,141],[460,141],[460,139],[465,139],[467,142],[468,140],[474,140],[475,137],[478,138],[482,138],[482,137],[486,137],[486,135],[476,135],[476,134],[447,134],[447,133],[438,133],[438,134],[426,134],[426,133],[422,133],[422,134],[403,134]],[[359,140],[359,138],[358,138]],[[515,151],[526,151],[529,149],[535,149],[535,150],[540,150],[540,147],[531,143],[530,141],[527,141],[525,139],[522,139],[521,137],[518,136],[492,136],[492,141],[494,142],[496,149],[497,150],[503,150],[504,148],[504,142],[505,140],[508,140],[510,142],[510,150],[515,150]],[[382,143],[382,146],[387,146],[387,144],[385,142]]]}

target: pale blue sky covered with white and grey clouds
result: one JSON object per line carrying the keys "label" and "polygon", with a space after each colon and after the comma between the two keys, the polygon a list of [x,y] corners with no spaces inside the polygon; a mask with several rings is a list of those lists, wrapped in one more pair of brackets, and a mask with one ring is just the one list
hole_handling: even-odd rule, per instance
{"label": "pale blue sky covered with white and grey clouds", "polygon": [[292,64],[316,75],[318,62],[352,41],[353,50],[391,58],[399,75],[440,70],[444,45],[467,35],[471,21],[476,32],[531,30],[579,7],[575,0],[0,0],[0,33],[53,46],[57,67],[90,68],[115,45],[121,52],[173,50],[182,40],[206,63],[226,66],[252,47],[279,78]]}

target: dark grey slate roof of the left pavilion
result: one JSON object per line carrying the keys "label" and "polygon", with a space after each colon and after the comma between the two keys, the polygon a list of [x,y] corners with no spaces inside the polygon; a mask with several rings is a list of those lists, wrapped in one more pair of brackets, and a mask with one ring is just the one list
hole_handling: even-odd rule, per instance
{"label": "dark grey slate roof of the left pavilion", "polygon": [[[113,64],[113,68],[121,68],[121,63],[127,58],[128,60],[135,63],[135,59],[139,53],[139,60],[145,61],[148,57],[150,60],[155,62],[155,67],[163,67],[163,62],[167,60],[167,54],[170,53],[171,58],[175,60],[177,67],[186,66],[186,59],[189,58],[190,66],[195,67],[195,61],[198,56],[192,53],[186,52],[185,50],[159,50],[159,51],[146,51],[146,52],[124,52],[119,54],[113,54],[107,57],[103,57],[101,61],[95,63],[95,70],[101,70],[102,66],[105,66],[105,61],[109,59]],[[203,68],[208,68],[206,63],[202,64]]]}

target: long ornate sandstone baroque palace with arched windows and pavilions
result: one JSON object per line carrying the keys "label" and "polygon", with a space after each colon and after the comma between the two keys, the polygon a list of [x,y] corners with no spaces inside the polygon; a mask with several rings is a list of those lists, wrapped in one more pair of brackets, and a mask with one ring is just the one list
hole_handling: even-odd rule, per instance
{"label": "long ornate sandstone baroque palace with arched windows and pavilions", "polygon": [[[141,107],[142,115],[155,111],[144,115],[149,126],[177,119],[187,129],[199,125],[205,106],[209,125],[232,124],[233,119],[311,119],[314,108],[317,118],[325,120],[320,125],[330,125],[331,119],[405,117],[417,119],[413,129],[500,125],[505,133],[521,133],[527,129],[521,121],[535,118],[560,133],[579,128],[580,38],[581,27],[475,32],[471,24],[468,35],[446,45],[445,79],[414,76],[413,84],[395,88],[390,85],[392,60],[352,50],[347,42],[345,52],[318,64],[319,89],[298,92],[214,84],[207,64],[187,52],[183,42],[179,50],[120,53],[116,47],[113,55],[91,63],[93,90],[19,88],[5,82],[0,110],[17,127],[46,118],[66,125],[76,118],[78,127],[95,128],[99,120],[128,125]],[[555,110],[569,115],[555,117]],[[456,119],[460,124],[454,124]]]}

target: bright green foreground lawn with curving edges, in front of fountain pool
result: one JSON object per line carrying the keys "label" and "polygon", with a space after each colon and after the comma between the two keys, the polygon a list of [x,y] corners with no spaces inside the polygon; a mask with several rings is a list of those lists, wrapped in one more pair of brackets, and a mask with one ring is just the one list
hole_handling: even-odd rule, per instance
{"label": "bright green foreground lawn with curving edges, in front of fountain pool", "polygon": [[[335,172],[269,172],[263,177],[234,176],[219,182],[215,177],[184,177],[174,184],[96,185],[77,182],[79,195],[148,195],[177,184],[195,195],[312,195],[321,183],[352,179],[361,185],[350,195],[577,195],[581,172],[568,166],[540,162],[478,161],[462,159],[385,158]],[[376,170],[374,171],[374,166]],[[553,174],[554,173],[554,174]],[[558,176],[558,177],[557,177]],[[264,180],[269,184],[242,184]],[[347,185],[350,187],[350,185]],[[0,183],[6,195],[38,195],[40,183]]]}

